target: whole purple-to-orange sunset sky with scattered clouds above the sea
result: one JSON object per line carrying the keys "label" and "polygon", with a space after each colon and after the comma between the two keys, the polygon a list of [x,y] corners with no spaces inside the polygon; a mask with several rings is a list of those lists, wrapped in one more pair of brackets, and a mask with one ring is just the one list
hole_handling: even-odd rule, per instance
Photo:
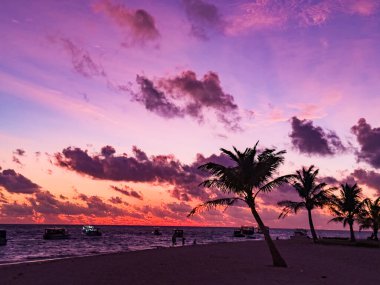
{"label": "whole purple-to-orange sunset sky with scattered clouds above the sea", "polygon": [[[221,147],[286,150],[380,194],[380,1],[3,0],[0,223],[240,226],[186,218]],[[262,195],[270,227],[289,187]],[[316,228],[341,229],[315,211]]]}

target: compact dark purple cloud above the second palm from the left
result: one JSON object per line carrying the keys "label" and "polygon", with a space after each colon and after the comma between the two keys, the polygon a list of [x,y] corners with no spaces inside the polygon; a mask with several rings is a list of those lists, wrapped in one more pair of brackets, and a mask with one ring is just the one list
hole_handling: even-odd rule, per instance
{"label": "compact dark purple cloud above the second palm from the left", "polygon": [[312,121],[293,117],[291,125],[292,132],[289,137],[293,147],[301,153],[331,156],[346,150],[335,132],[325,131],[319,126],[314,126]]}

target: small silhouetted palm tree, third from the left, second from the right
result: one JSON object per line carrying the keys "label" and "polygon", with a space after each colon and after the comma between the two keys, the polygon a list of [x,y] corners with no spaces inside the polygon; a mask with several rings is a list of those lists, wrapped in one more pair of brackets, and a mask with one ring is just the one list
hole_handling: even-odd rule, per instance
{"label": "small silhouetted palm tree, third from the left, second from the right", "polygon": [[363,207],[361,191],[356,183],[352,186],[348,183],[341,184],[340,197],[332,195],[330,200],[330,210],[335,218],[329,222],[343,222],[343,227],[348,224],[352,242],[356,241],[353,228],[354,221]]}

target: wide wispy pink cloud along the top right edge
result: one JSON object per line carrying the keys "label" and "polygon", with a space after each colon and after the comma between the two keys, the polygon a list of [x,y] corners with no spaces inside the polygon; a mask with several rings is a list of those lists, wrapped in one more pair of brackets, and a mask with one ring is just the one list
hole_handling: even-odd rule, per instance
{"label": "wide wispy pink cloud along the top right edge", "polygon": [[377,0],[251,1],[237,5],[227,19],[226,33],[236,35],[250,30],[320,26],[342,14],[373,15],[379,7]]}

